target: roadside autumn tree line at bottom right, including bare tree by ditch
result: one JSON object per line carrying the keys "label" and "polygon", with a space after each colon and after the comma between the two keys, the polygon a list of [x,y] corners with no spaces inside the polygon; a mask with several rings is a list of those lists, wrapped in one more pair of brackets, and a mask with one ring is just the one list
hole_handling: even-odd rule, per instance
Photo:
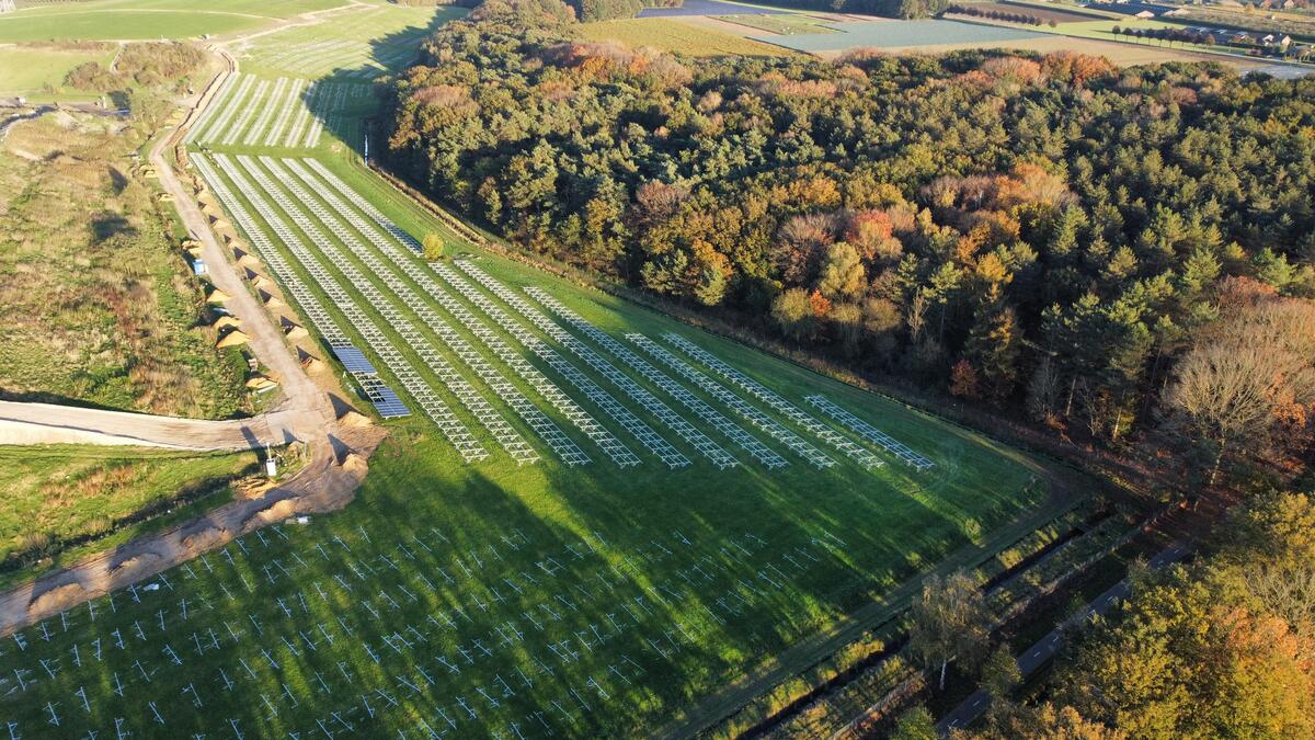
{"label": "roadside autumn tree line at bottom right, including bare tree by ditch", "polygon": [[[1266,492],[1235,514],[1194,562],[1136,569],[1130,599],[1094,625],[1074,623],[1040,699],[1015,703],[1013,657],[959,645],[997,697],[982,729],[956,740],[1009,737],[1311,737],[1315,735],[1315,504]],[[956,600],[957,599],[957,600]],[[935,628],[963,621],[952,589],[919,602]],[[960,610],[961,611],[961,610]],[[930,732],[928,732],[930,731]],[[896,737],[936,737],[913,710]]]}

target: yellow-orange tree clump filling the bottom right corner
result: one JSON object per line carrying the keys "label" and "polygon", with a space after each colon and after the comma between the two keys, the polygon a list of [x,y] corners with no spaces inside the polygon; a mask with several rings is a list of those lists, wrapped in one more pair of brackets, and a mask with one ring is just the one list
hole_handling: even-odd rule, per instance
{"label": "yellow-orange tree clump filling the bottom right corner", "polygon": [[1239,553],[1140,579],[1063,662],[1056,699],[1132,737],[1315,736],[1310,637],[1256,598],[1265,550]]}

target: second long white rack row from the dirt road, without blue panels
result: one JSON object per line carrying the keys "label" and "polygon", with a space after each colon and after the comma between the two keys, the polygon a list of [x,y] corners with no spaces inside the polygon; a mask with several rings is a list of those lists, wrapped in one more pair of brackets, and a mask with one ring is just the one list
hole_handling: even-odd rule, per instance
{"label": "second long white rack row from the dirt road, without blue panels", "polygon": [[[247,158],[242,158],[247,159]],[[466,428],[466,424],[452,412],[447,406],[434,392],[433,388],[419,377],[410,362],[402,357],[402,354],[393,346],[392,341],[383,333],[383,330],[370,319],[370,316],[356,305],[356,302],[338,284],[333,275],[320,263],[320,261],[306,249],[301,237],[296,236],[291,226],[283,220],[281,216],[268,204],[268,201],[260,195],[260,191],[246,179],[246,176],[238,170],[237,165],[231,159],[224,155],[216,155],[216,163],[224,171],[224,174],[233,182],[233,184],[239,188],[255,207],[256,212],[270,226],[270,229],[283,241],[284,246],[289,253],[297,259],[301,267],[310,275],[312,280],[320,287],[330,302],[333,302],[343,316],[346,316],[347,323],[366,340],[371,352],[376,357],[384,361],[384,366],[388,367],[389,373],[402,384],[402,388],[412,396],[417,406],[419,406],[425,413],[438,425],[439,431],[444,437],[456,448],[458,453],[467,462],[473,462],[479,460],[488,458],[489,453],[484,449],[484,445],[475,438],[473,435]],[[243,167],[250,165],[250,159],[242,162]],[[255,232],[259,229],[256,228]],[[255,233],[249,232],[249,236]],[[254,238],[254,237],[252,237]],[[293,277],[295,279],[295,277]],[[288,284],[288,283],[285,283]],[[341,336],[341,334],[339,334]],[[326,340],[329,337],[326,336]],[[346,337],[342,337],[347,341]]]}

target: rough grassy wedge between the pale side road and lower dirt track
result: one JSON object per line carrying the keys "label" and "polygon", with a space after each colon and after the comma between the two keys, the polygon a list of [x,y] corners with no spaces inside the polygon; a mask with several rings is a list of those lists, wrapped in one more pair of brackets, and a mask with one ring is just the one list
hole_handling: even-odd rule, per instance
{"label": "rough grassy wedge between the pale side road and lower dirt track", "polygon": [[0,446],[0,587],[185,521],[255,466],[254,453]]}

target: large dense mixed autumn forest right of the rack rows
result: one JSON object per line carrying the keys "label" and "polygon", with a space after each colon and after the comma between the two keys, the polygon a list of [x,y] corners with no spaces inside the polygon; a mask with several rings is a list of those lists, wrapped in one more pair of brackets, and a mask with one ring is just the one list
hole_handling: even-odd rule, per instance
{"label": "large dense mixed autumn forest right of the rack rows", "polygon": [[1197,482],[1308,446],[1315,80],[694,63],[571,16],[441,29],[388,92],[389,166],[534,253],[1059,438],[1173,448]]}

